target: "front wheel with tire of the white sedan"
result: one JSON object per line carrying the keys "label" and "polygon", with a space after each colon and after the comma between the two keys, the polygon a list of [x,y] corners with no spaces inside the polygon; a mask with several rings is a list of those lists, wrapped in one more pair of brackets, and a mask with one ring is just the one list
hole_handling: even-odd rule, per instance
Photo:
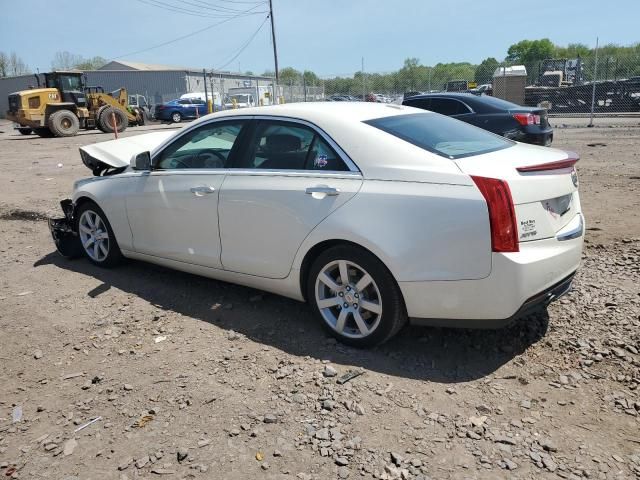
{"label": "front wheel with tire of the white sedan", "polygon": [[[96,203],[88,201],[81,204],[76,212],[76,218],[76,229],[82,253],[91,263],[99,267],[110,268],[122,262],[124,257],[111,224]],[[96,239],[96,236],[99,238]]]}

